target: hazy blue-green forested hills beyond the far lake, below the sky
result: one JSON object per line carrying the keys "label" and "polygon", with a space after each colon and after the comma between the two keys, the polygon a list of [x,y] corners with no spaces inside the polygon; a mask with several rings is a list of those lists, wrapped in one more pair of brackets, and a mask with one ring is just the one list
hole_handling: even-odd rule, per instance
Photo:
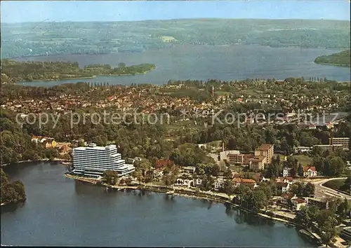
{"label": "hazy blue-green forested hills beyond the far lake, below the sky", "polygon": [[143,52],[172,44],[350,48],[347,20],[183,19],[1,23],[1,57]]}

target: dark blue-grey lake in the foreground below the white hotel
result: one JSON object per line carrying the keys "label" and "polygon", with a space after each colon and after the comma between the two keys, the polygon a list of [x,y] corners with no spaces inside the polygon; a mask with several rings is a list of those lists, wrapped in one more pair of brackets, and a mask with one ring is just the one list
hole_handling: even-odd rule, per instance
{"label": "dark blue-grey lake in the foreground below the white hotel", "polygon": [[27,202],[1,207],[1,244],[312,247],[295,228],[205,200],[159,193],[105,193],[64,177],[60,164],[7,167]]}

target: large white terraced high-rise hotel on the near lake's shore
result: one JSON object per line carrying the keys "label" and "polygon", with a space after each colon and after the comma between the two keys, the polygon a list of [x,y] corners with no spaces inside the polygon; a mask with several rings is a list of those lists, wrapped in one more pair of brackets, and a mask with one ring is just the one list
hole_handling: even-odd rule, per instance
{"label": "large white terraced high-rise hotel on the near lake's shore", "polygon": [[99,177],[105,170],[117,171],[119,176],[124,176],[135,170],[133,165],[126,165],[117,153],[116,145],[96,146],[88,144],[87,147],[73,149],[73,173],[88,177]]}

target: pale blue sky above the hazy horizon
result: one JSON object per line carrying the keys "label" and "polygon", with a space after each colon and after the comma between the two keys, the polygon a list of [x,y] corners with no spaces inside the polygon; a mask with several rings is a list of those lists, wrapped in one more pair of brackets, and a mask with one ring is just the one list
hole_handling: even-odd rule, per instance
{"label": "pale blue sky above the hazy horizon", "polygon": [[1,1],[1,22],[184,18],[350,20],[350,1]]}

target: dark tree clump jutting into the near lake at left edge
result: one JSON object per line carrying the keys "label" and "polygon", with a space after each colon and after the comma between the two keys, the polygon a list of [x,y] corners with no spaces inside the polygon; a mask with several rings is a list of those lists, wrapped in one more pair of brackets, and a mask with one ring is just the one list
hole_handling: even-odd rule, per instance
{"label": "dark tree clump jutting into the near lake at left edge", "polygon": [[11,183],[7,174],[1,169],[1,204],[25,200],[25,186],[21,181]]}

